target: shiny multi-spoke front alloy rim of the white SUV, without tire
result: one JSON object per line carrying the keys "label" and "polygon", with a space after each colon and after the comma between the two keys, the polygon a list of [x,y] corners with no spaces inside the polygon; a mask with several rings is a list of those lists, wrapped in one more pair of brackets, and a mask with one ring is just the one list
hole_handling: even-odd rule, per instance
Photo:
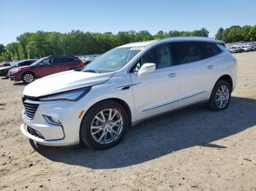
{"label": "shiny multi-spoke front alloy rim of the white SUV, without tire", "polygon": [[123,129],[123,118],[116,109],[104,109],[91,122],[91,136],[99,144],[116,141]]}

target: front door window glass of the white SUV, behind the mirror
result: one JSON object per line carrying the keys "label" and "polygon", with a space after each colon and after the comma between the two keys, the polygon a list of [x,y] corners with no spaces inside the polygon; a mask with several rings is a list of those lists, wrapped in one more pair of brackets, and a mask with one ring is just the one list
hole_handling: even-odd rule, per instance
{"label": "front door window glass of the white SUV, behind the mirror", "polygon": [[144,63],[155,63],[157,69],[173,66],[173,56],[170,44],[162,44],[146,52],[135,64],[132,71],[139,71]]}

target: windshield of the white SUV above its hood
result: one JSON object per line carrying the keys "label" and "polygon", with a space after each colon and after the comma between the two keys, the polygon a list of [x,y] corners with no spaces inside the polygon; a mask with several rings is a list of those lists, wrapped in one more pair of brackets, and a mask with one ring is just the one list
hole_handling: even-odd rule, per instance
{"label": "windshield of the white SUV above its hood", "polygon": [[82,71],[91,72],[110,72],[121,69],[135,55],[142,50],[143,47],[120,47],[106,52],[96,60],[89,63]]}

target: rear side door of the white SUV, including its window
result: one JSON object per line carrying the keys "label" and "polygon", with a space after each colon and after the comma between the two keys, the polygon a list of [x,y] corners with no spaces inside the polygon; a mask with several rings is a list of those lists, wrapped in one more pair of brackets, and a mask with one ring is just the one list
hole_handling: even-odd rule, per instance
{"label": "rear side door of the white SUV, including its window", "polygon": [[174,43],[180,66],[181,106],[208,99],[217,73],[216,59],[208,58],[206,42]]}

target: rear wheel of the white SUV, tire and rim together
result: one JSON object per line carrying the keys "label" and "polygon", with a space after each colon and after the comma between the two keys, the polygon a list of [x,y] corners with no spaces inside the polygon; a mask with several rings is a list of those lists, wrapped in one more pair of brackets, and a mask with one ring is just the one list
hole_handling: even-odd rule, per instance
{"label": "rear wheel of the white SUV, tire and rim together", "polygon": [[219,80],[214,85],[208,107],[214,112],[227,109],[231,99],[231,87],[225,80]]}

